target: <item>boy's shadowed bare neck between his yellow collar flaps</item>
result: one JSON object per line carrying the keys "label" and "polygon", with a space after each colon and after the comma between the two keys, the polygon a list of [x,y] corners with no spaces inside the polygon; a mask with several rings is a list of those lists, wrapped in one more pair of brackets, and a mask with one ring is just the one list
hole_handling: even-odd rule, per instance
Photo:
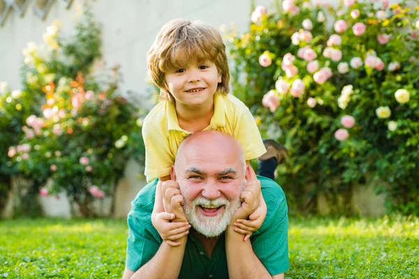
{"label": "boy's shadowed bare neck between his yellow collar flaps", "polygon": [[196,133],[210,125],[214,115],[214,98],[196,107],[175,102],[175,109],[180,128]]}

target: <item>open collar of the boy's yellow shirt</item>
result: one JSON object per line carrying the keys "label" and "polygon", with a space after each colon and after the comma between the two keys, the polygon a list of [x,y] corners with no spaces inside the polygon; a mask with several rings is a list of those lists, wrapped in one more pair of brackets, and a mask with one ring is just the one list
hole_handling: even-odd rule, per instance
{"label": "open collar of the boy's yellow shirt", "polygon": [[[210,121],[211,126],[223,127],[226,126],[226,107],[224,105],[224,97],[221,93],[216,92],[214,94],[214,115]],[[179,126],[177,121],[177,114],[175,109],[175,103],[171,100],[166,101],[166,115],[168,117],[168,130],[180,130],[184,131]]]}

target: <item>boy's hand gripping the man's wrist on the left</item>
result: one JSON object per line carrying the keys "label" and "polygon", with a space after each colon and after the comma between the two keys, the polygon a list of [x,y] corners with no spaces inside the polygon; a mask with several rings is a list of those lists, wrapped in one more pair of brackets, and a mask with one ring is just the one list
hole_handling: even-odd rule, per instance
{"label": "boy's hand gripping the man's wrist on the left", "polygon": [[170,246],[181,245],[182,242],[178,240],[189,234],[189,229],[191,228],[191,225],[189,225],[188,222],[172,222],[175,217],[176,216],[173,213],[158,213],[156,225],[154,225],[157,232],[159,232],[161,239]]}

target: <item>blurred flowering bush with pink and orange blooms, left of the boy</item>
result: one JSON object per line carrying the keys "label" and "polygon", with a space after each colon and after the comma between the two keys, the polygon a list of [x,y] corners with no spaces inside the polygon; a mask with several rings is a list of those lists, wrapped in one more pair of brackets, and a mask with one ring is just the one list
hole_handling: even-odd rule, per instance
{"label": "blurred flowering bush with pink and orange blooms, left of the boy", "polygon": [[118,92],[119,67],[98,61],[100,28],[89,9],[75,29],[66,41],[54,22],[46,45],[29,43],[24,50],[24,91],[40,98],[8,157],[37,185],[52,180],[40,195],[64,190],[91,216],[92,200],[113,195],[128,158],[142,159],[142,123],[139,109]]}

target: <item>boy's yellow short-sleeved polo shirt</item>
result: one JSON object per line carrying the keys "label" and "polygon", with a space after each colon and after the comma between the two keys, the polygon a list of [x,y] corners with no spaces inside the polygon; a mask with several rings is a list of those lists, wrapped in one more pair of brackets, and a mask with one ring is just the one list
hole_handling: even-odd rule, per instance
{"label": "boy's yellow short-sleeved polo shirt", "polygon": [[[214,115],[210,126],[204,130],[219,130],[235,137],[242,145],[246,160],[266,152],[249,108],[231,94],[214,94]],[[179,127],[175,103],[161,101],[149,112],[142,126],[147,181],[170,174],[177,148],[189,134],[191,132]]]}

